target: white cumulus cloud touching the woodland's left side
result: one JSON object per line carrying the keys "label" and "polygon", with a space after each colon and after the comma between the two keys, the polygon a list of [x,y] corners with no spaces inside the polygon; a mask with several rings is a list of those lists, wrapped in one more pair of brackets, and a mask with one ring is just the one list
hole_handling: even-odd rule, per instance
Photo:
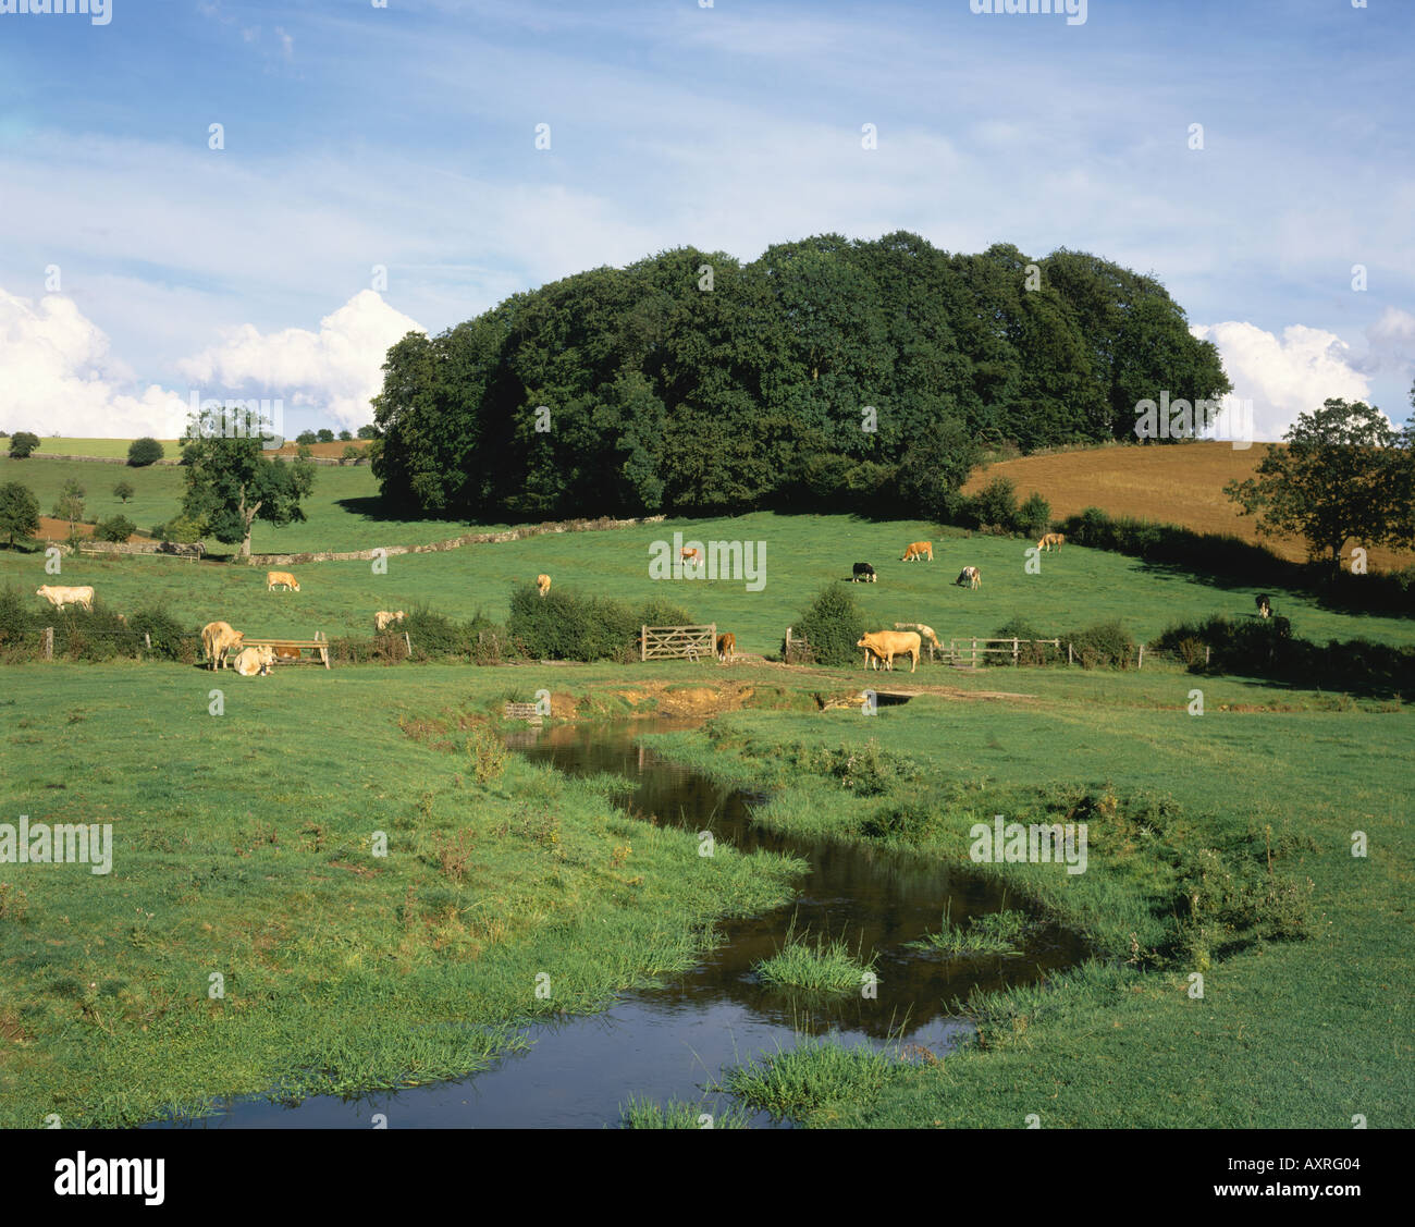
{"label": "white cumulus cloud touching the woodland's left side", "polygon": [[383,386],[389,345],[422,331],[416,320],[388,306],[378,293],[361,290],[320,320],[317,333],[260,333],[243,324],[177,368],[204,385],[198,389],[204,399],[255,389],[289,405],[317,406],[337,425],[354,427],[374,420],[369,399]]}

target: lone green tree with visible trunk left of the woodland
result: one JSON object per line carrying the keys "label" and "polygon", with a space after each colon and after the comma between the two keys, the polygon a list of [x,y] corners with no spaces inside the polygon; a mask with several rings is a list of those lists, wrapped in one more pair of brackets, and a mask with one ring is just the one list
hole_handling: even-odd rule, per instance
{"label": "lone green tree with visible trunk left of the woodland", "polygon": [[293,464],[270,457],[259,437],[188,433],[192,460],[187,468],[183,515],[202,522],[226,545],[241,545],[250,556],[250,529],[260,519],[283,525],[304,519],[300,500],[314,488],[314,466],[299,457]]}

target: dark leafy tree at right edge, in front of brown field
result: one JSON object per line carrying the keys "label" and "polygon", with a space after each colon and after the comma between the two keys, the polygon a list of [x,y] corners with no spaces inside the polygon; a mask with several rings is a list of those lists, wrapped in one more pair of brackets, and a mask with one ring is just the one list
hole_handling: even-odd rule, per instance
{"label": "dark leafy tree at right edge, in front of brown field", "polygon": [[1262,535],[1302,536],[1333,570],[1356,538],[1370,548],[1409,539],[1415,522],[1415,419],[1397,434],[1378,409],[1329,399],[1300,413],[1247,481],[1224,494],[1257,515]]}

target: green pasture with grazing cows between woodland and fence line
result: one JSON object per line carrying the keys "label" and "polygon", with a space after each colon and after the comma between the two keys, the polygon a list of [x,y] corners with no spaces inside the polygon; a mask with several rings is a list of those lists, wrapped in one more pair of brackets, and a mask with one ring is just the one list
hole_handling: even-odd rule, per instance
{"label": "green pasture with grazing cows between woodland and fence line", "polygon": [[[41,461],[42,463],[42,461]],[[88,466],[92,473],[98,466]],[[354,474],[354,470],[321,470]],[[333,515],[334,512],[328,512]],[[422,525],[424,535],[446,535]],[[654,579],[654,542],[751,542],[764,559],[760,590],[746,579]],[[393,535],[396,536],[396,534]],[[934,538],[934,562],[899,562],[904,545]],[[376,543],[366,534],[358,542]],[[478,609],[501,621],[511,584],[546,573],[562,587],[630,601],[669,596],[703,623],[737,635],[737,650],[777,652],[791,626],[819,589],[850,577],[856,560],[872,562],[877,583],[852,589],[872,628],[896,621],[931,626],[949,635],[990,635],[1013,617],[1024,617],[1044,633],[1063,634],[1105,618],[1119,618],[1148,640],[1184,618],[1223,611],[1254,617],[1255,587],[1206,583],[1173,568],[1105,551],[1065,546],[1041,555],[1040,575],[1026,572],[1030,542],[999,536],[940,536],[917,521],[870,522],[855,517],[775,515],[758,512],[730,519],[676,519],[597,532],[548,534],[498,545],[474,545],[424,555],[395,555],[386,573],[371,562],[321,562],[293,566],[301,590],[267,593],[265,568],[191,563],[150,556],[64,560],[62,579],[45,576],[41,553],[0,551],[0,584],[33,592],[42,583],[92,584],[100,600],[130,611],[153,601],[166,604],[192,627],[221,618],[248,634],[371,634],[378,610],[412,610],[429,604],[454,618]],[[761,552],[764,546],[764,552]],[[964,565],[982,572],[976,592],[954,580]],[[1356,638],[1409,643],[1408,620],[1353,616],[1323,609],[1313,599],[1266,589],[1278,613],[1305,638]],[[38,597],[35,597],[38,600]]]}

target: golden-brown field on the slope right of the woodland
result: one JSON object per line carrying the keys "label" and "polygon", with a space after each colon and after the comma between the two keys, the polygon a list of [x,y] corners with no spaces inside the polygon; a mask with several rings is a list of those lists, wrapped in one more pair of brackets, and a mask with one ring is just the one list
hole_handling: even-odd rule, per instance
{"label": "golden-brown field on the slope right of the woodland", "polygon": [[[1024,456],[974,473],[964,491],[976,494],[993,477],[1010,477],[1019,500],[1039,491],[1058,519],[1099,507],[1112,515],[1179,524],[1196,532],[1228,532],[1257,541],[1282,558],[1303,560],[1306,548],[1300,541],[1258,536],[1252,517],[1238,515],[1237,504],[1223,492],[1227,483],[1252,477],[1271,446],[1255,443],[1247,451],[1235,451],[1230,443],[1183,443]],[[1373,566],[1387,569],[1411,562],[1415,553],[1409,551],[1371,551]]]}

